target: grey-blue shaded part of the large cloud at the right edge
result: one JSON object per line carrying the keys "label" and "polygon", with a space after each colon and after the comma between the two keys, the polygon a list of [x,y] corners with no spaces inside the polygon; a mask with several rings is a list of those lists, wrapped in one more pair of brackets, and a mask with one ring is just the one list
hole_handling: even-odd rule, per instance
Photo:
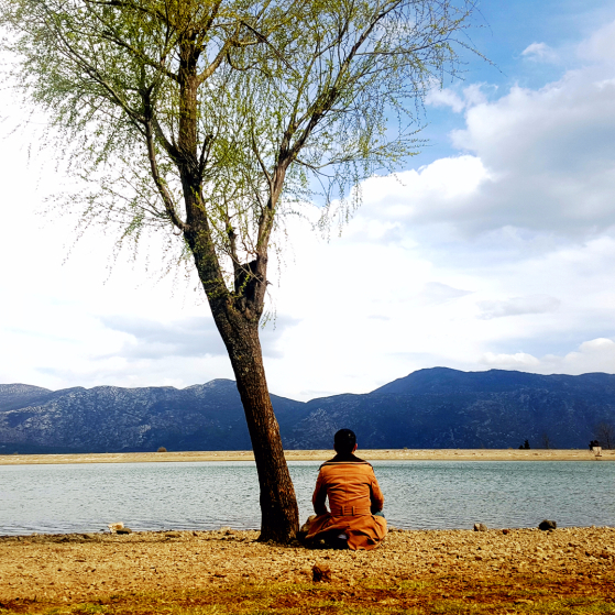
{"label": "grey-blue shaded part of the large cloud at the right edge", "polygon": [[615,224],[615,81],[583,72],[473,107],[453,143],[491,174],[463,224],[568,234]]}

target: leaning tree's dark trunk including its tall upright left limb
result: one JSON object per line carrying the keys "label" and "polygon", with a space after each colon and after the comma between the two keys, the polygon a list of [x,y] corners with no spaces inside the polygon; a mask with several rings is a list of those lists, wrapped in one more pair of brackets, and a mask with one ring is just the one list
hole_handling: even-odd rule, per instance
{"label": "leaning tree's dark trunk including its tall upright left limb", "polygon": [[207,295],[211,314],[235,374],[245,420],[252,440],[261,487],[261,540],[288,542],[299,529],[299,510],[295,487],[284,458],[279,426],[267,389],[263,353],[259,340],[259,321],[266,288],[267,233],[259,237],[260,253],[252,263],[235,265],[235,292],[226,287],[213,245],[207,208],[202,201],[202,176],[197,156],[197,64],[199,50],[195,37],[186,32],[180,53],[180,109],[178,168],[186,205],[184,237],[195,257],[195,265]]}

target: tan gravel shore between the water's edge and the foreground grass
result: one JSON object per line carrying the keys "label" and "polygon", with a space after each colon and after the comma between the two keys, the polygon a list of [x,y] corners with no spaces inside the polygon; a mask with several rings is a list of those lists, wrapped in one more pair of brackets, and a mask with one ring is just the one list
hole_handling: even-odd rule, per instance
{"label": "tan gravel shore between the water's edge and the foreground grass", "polygon": [[[541,574],[612,584],[615,528],[389,531],[373,551],[309,550],[256,541],[256,531],[133,532],[0,537],[0,603],[88,601],[144,591],[211,590],[237,582],[331,586]],[[1,604],[0,604],[1,607]],[[0,608],[1,611],[1,608]]]}

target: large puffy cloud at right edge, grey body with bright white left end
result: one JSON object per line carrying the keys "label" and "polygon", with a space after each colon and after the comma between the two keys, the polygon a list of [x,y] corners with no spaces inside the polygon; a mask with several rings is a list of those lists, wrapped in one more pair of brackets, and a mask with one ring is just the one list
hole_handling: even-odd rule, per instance
{"label": "large puffy cloud at right edge, grey body with bright white left end", "polygon": [[[614,26],[615,28],[615,26]],[[615,65],[569,70],[540,89],[433,90],[428,103],[464,111],[451,132],[462,155],[364,183],[359,217],[416,238],[416,224],[464,237],[503,229],[575,240],[615,228]],[[364,222],[366,224],[366,222]],[[383,227],[384,228],[384,227]],[[438,241],[440,231],[420,241]],[[384,237],[384,233],[383,233]]]}

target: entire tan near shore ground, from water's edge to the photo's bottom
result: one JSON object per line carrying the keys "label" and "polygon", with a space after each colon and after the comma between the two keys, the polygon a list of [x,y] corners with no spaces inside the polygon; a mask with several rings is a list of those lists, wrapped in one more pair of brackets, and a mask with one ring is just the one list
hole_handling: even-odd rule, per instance
{"label": "entire tan near shore ground, from water's edge to the photo's bottom", "polygon": [[369,552],[257,536],[0,537],[0,613],[615,613],[615,528],[393,529]]}

